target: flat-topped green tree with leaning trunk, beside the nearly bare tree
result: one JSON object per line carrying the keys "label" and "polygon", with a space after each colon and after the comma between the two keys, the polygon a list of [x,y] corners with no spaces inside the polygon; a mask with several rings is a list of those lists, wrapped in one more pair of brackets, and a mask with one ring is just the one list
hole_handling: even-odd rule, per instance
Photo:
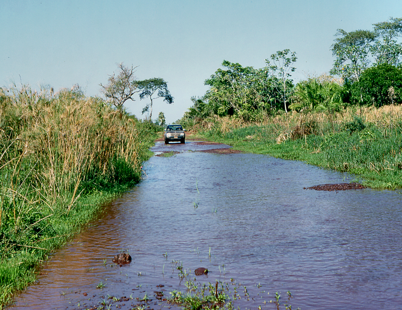
{"label": "flat-topped green tree with leaning trunk, beside the nearly bare tree", "polygon": [[[138,88],[140,89],[140,99],[149,97],[151,102],[146,105],[142,110],[142,114],[150,110],[149,119],[152,119],[152,105],[153,100],[157,98],[164,98],[169,105],[173,103],[173,97],[167,89],[167,83],[160,77],[154,77],[143,81],[138,81]],[[155,97],[153,95],[156,94]]]}

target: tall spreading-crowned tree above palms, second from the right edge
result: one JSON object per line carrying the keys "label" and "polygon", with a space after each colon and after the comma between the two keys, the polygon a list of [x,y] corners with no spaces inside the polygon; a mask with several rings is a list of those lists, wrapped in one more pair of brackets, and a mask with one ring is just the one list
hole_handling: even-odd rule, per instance
{"label": "tall spreading-crowned tree above palms, second from the right edge", "polygon": [[356,30],[346,32],[338,29],[332,45],[332,54],[336,57],[331,74],[339,75],[351,82],[358,81],[361,72],[370,63],[370,43],[374,41],[376,35],[368,30]]}

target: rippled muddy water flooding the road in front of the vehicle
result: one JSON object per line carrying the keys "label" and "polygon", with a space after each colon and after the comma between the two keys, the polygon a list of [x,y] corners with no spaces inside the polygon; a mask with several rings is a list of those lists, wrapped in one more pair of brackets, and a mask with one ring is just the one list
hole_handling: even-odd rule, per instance
{"label": "rippled muddy water flooding the road in front of the vehicle", "polygon": [[[198,152],[217,147],[227,146],[157,143],[156,154],[179,153],[151,158],[143,182],[54,254],[13,308],[131,309],[145,294],[150,308],[166,308],[155,291],[185,291],[178,265],[192,276],[208,268],[200,282],[233,278],[242,309],[276,309],[269,301],[278,291],[283,303],[288,290],[294,309],[401,307],[400,192],[306,190],[350,178],[263,155]],[[120,267],[112,259],[122,251],[133,260]]]}

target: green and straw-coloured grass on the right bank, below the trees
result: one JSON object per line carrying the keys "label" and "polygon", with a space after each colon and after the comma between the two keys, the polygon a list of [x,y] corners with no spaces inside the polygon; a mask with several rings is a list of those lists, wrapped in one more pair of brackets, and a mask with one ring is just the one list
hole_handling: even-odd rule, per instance
{"label": "green and straw-coloured grass on the right bank, below the trees", "polygon": [[[379,117],[371,117],[371,122],[364,122],[370,115],[349,115],[332,124],[323,123],[322,115],[317,114],[310,116],[306,125],[300,121],[302,116],[296,121],[288,116],[287,121],[271,120],[226,132],[215,126],[204,132],[204,137],[245,152],[349,172],[372,188],[402,188],[402,118],[399,113],[390,122],[389,114],[374,112]],[[300,134],[300,128],[307,134]]]}

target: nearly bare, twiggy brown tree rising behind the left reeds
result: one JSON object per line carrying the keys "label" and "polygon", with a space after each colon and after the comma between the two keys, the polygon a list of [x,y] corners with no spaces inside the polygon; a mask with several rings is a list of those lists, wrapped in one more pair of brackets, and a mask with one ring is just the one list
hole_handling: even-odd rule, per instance
{"label": "nearly bare, twiggy brown tree rising behind the left reeds", "polygon": [[123,63],[119,64],[119,75],[116,77],[115,73],[109,75],[108,84],[102,87],[101,91],[106,96],[107,100],[119,110],[123,108],[124,102],[128,99],[135,101],[133,95],[139,92],[137,89],[137,81],[134,76],[137,67],[126,67]]}

